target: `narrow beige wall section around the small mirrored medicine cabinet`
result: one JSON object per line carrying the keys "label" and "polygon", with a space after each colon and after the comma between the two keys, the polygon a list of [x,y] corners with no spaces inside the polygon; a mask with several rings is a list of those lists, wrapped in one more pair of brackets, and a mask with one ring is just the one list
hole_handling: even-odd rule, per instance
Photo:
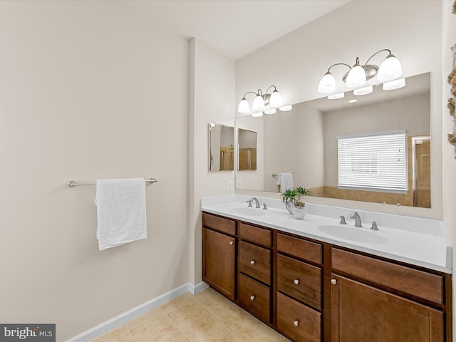
{"label": "narrow beige wall section around the small mirrored medicine cabinet", "polygon": [[[202,281],[200,199],[234,192],[234,171],[209,172],[209,122],[234,126],[234,61],[198,39],[190,41],[190,283]],[[233,183],[228,190],[228,182]]]}

